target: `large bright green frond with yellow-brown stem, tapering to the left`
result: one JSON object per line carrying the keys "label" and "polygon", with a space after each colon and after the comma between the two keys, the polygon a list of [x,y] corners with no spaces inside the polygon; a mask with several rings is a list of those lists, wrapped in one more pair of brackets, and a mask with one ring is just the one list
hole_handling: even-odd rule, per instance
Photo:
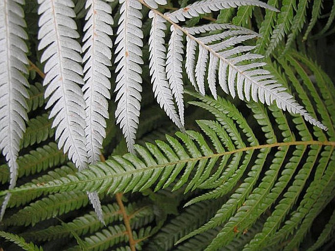
{"label": "large bright green frond with yellow-brown stem, tapering to the left", "polygon": [[[204,250],[219,250],[223,246],[229,250],[236,238],[259,224],[269,208],[273,210],[240,248],[245,251],[267,249],[291,236],[294,238],[286,249],[298,247],[315,217],[334,198],[334,86],[312,61],[293,51],[278,64],[268,64],[267,69],[284,86],[290,83],[309,114],[320,117],[329,128],[327,132],[312,128],[300,115],[292,118],[275,105],[266,108],[250,102],[248,112],[241,112],[238,106],[222,97],[214,99],[187,92],[198,99],[191,101],[192,105],[208,110],[215,117],[215,120],[197,121],[201,131],[178,132],[177,137],[167,135],[165,141],[135,145],[137,156],[112,156],[78,174],[42,185],[25,184],[11,192],[13,196],[27,192],[94,190],[109,194],[144,191],[149,187],[155,190],[183,187],[185,192],[200,191],[193,194],[186,205],[226,199],[207,223],[190,233],[187,232],[191,229],[181,233],[186,235],[177,242],[180,248],[188,238],[191,238],[190,243],[193,238],[194,241],[207,238]],[[309,78],[311,71],[314,80]],[[182,222],[187,217],[180,217],[176,221],[186,227]],[[167,231],[169,238],[173,237],[171,231],[177,234],[183,227]],[[206,234],[212,229],[214,235]],[[113,236],[119,235],[111,234],[110,230],[96,242],[107,236],[118,240]],[[326,239],[322,236],[321,239]],[[177,238],[173,238],[175,242]],[[172,247],[172,242],[166,242],[165,250]]]}

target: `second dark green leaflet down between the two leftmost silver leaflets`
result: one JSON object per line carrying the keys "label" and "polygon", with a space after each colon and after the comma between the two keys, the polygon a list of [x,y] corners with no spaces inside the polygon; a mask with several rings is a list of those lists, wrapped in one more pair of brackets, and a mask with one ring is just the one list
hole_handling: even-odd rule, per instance
{"label": "second dark green leaflet down between the two leftmost silver leaflets", "polygon": [[21,147],[41,143],[54,135],[55,130],[51,128],[52,120],[48,119],[48,116],[49,114],[43,114],[29,119],[21,140]]}

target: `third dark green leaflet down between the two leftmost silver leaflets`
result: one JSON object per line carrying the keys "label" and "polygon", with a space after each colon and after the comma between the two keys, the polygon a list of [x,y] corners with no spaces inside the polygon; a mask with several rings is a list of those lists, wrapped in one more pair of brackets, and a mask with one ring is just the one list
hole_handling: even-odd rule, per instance
{"label": "third dark green leaflet down between the two leftmost silver leaflets", "polygon": [[[29,176],[45,171],[53,166],[63,164],[67,161],[67,157],[62,150],[58,150],[57,144],[50,142],[49,144],[30,151],[29,154],[20,156],[17,160],[19,165],[18,177]],[[6,183],[9,180],[9,170],[7,165],[0,166],[0,181]]]}

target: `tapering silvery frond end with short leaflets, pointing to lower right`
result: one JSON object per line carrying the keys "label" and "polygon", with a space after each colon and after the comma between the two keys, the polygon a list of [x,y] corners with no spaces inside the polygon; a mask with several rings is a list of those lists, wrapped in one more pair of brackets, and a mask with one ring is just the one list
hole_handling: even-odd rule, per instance
{"label": "tapering silvery frond end with short leaflets, pointing to lower right", "polygon": [[[248,30],[224,31],[219,34],[195,37],[191,34],[201,34],[213,31],[219,25],[203,25],[204,27],[186,28],[188,34],[186,46],[186,70],[190,81],[193,83],[195,72],[196,83],[199,91],[205,94],[204,76],[207,71],[207,82],[209,89],[216,98],[217,75],[218,82],[223,91],[233,98],[237,95],[241,100],[260,101],[271,105],[276,102],[282,110],[288,110],[294,114],[301,114],[313,125],[326,129],[322,123],[314,119],[304,110],[281,85],[277,84],[270,72],[263,69],[266,65],[259,62],[261,55],[250,53],[254,46],[242,46],[241,43],[255,38],[257,35]],[[222,38],[223,41],[218,38]],[[214,43],[218,41],[218,43]],[[198,58],[195,58],[198,48]],[[209,64],[208,63],[209,55]],[[190,57],[190,59],[188,58]],[[197,63],[195,63],[197,62]],[[217,74],[218,72],[218,74]]]}

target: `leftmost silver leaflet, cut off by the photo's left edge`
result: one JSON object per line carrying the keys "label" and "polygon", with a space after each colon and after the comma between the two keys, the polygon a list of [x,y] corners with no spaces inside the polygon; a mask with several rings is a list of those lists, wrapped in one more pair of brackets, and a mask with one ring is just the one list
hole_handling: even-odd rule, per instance
{"label": "leftmost silver leaflet, cut off by the photo's left edge", "polygon": [[[23,40],[27,39],[26,26],[21,7],[23,0],[0,0],[0,149],[10,169],[9,188],[14,188],[18,175],[16,162],[20,141],[25,131],[24,120],[28,119],[28,51]],[[10,194],[1,206],[0,221],[9,202]]]}

